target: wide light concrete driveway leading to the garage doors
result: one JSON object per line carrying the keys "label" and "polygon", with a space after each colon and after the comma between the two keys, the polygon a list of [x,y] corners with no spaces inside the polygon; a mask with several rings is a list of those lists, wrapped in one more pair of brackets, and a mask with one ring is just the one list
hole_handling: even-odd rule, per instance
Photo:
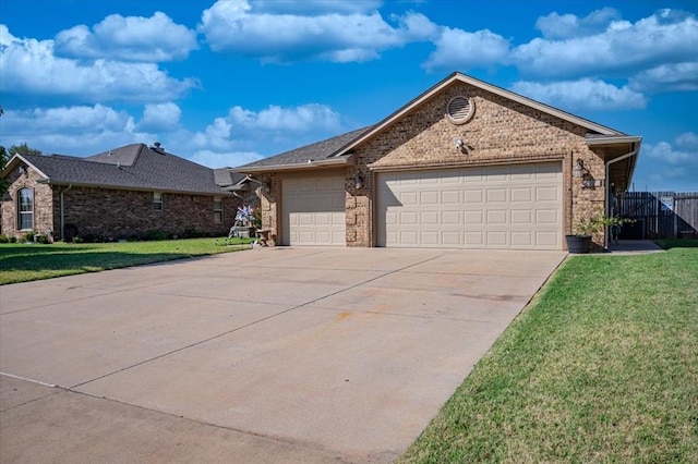
{"label": "wide light concrete driveway leading to the garage doors", "polygon": [[2,286],[0,461],[389,462],[564,256],[277,247]]}

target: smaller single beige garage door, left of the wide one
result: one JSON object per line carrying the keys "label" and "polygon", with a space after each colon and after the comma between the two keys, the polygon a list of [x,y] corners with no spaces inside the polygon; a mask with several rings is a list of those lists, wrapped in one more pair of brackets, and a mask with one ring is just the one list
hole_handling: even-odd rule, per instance
{"label": "smaller single beige garage door, left of the wide one", "polygon": [[344,176],[284,180],[281,192],[285,245],[347,244]]}

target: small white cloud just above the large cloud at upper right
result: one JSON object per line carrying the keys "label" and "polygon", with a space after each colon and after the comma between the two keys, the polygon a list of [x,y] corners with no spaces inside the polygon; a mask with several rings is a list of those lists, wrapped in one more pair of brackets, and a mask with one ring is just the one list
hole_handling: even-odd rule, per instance
{"label": "small white cloud just above the large cloud at upper right", "polygon": [[619,19],[621,14],[613,8],[592,11],[585,17],[551,13],[539,17],[535,27],[547,39],[567,39],[603,33],[612,21]]}

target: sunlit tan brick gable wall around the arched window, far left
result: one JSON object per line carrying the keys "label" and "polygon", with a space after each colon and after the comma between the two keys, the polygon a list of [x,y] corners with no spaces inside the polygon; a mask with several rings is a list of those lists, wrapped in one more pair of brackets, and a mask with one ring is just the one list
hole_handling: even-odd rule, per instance
{"label": "sunlit tan brick gable wall around the arched window, far left", "polygon": [[17,229],[17,196],[19,191],[25,187],[34,190],[34,228],[40,233],[55,231],[53,206],[51,204],[51,187],[38,182],[40,176],[36,171],[26,169],[20,171],[20,166],[10,172],[7,180],[10,184],[8,192],[2,197],[2,233],[8,236],[21,236],[26,231]]}

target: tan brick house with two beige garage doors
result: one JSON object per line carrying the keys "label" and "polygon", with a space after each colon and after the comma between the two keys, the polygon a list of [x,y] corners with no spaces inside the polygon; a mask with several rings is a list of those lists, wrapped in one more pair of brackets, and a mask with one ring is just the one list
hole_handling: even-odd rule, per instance
{"label": "tan brick house with two beige garage doors", "polygon": [[454,73],[375,125],[236,171],[262,182],[281,245],[565,249],[627,190],[640,143]]}

